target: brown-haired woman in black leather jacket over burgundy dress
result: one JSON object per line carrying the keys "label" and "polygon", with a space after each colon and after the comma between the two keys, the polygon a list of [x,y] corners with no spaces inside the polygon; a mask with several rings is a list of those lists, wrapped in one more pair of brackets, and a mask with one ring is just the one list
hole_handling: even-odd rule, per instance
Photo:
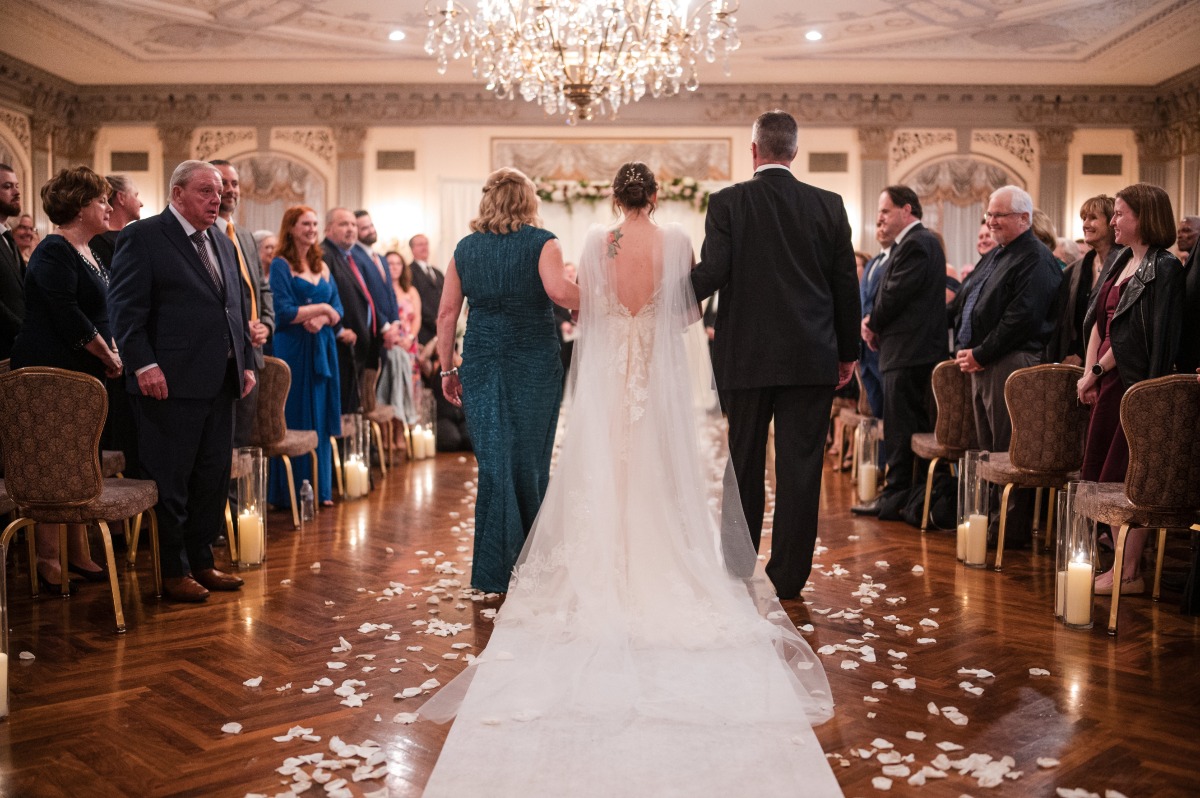
{"label": "brown-haired woman in black leather jacket over burgundy dress", "polygon": [[[1121,428],[1121,397],[1144,379],[1175,367],[1183,323],[1183,268],[1171,252],[1175,215],[1158,186],[1139,182],[1117,192],[1112,230],[1124,247],[1104,275],[1087,310],[1087,360],[1079,401],[1091,404],[1082,479],[1123,482],[1129,446]],[[1141,551],[1146,529],[1132,529],[1121,570],[1121,594],[1141,593]],[[1112,571],[1096,577],[1096,593],[1111,595]]]}

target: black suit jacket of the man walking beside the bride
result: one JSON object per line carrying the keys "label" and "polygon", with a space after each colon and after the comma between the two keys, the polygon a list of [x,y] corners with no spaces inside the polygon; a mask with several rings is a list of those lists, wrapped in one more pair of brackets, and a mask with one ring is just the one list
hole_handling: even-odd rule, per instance
{"label": "black suit jacket of the man walking beside the bride", "polygon": [[712,196],[696,299],[720,289],[713,370],[722,390],[836,385],[858,359],[862,306],[838,194],[764,169]]}

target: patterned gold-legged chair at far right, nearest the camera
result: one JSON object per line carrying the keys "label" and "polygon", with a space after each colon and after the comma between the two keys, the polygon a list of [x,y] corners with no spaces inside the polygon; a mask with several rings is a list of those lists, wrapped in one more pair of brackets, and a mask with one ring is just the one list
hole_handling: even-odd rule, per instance
{"label": "patterned gold-legged chair at far right, nearest the camera", "polygon": [[1124,482],[1082,482],[1075,493],[1075,512],[1120,528],[1112,565],[1110,635],[1117,634],[1121,566],[1129,529],[1158,529],[1157,601],[1166,530],[1188,530],[1200,521],[1200,383],[1194,374],[1136,383],[1121,397],[1121,427],[1129,442]]}

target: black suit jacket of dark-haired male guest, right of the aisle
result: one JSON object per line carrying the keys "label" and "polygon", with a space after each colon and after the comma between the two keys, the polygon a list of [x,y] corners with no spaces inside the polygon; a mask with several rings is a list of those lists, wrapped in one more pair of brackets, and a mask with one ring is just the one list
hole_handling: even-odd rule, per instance
{"label": "black suit jacket of dark-haired male guest, right of the aisle", "polygon": [[946,359],[946,253],[918,223],[883,264],[868,328],[880,336],[880,371]]}

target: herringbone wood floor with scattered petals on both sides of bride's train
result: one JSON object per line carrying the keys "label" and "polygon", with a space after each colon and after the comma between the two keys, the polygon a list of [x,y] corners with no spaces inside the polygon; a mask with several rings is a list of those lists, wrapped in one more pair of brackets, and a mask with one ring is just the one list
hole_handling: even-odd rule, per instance
{"label": "herringbone wood floor with scattered petals on both sides of bride's train", "polygon": [[[287,757],[336,758],[330,743],[338,737],[380,746],[380,778],[353,782],[353,768],[335,774],[347,779],[352,794],[419,796],[446,728],[392,722],[421,701],[392,696],[457,673],[463,660],[443,655],[478,652],[491,629],[487,611],[498,606],[458,600],[452,588],[431,604],[437,594],[426,589],[438,580],[468,582],[470,536],[463,521],[472,515],[466,484],[474,479],[473,466],[445,454],[400,466],[367,499],[324,510],[300,533],[283,514],[272,515],[268,563],[242,572],[240,593],[214,594],[203,606],[155,600],[144,551],[136,572],[122,577],[130,624],[124,636],[113,632],[103,586],[78,588],[70,600],[44,594],[30,600],[24,558],[14,552],[12,714],[0,722],[0,793],[274,796],[290,781],[276,773]],[[1091,631],[1067,630],[1050,612],[1052,557],[1015,552],[1006,556],[1003,574],[966,570],[954,563],[946,533],[851,517],[851,488],[848,474],[827,469],[822,544],[828,551],[817,560],[826,572],[834,564],[846,572],[815,574],[814,589],[804,594],[810,604],[787,607],[798,624],[812,624],[814,648],[865,641],[877,655],[875,662],[853,652],[822,656],[838,713],[817,734],[847,796],[884,794],[872,786],[883,766],[858,754],[877,739],[912,755],[913,770],[941,754],[936,743],[952,742],[964,746],[948,754],[952,760],[972,752],[1012,756],[1022,772],[991,790],[953,770],[925,786],[900,778],[886,794],[1049,797],[1057,787],[1102,796],[1111,788],[1129,798],[1200,794],[1200,624],[1178,614],[1177,596],[1168,594],[1158,605],[1148,596],[1122,601],[1115,640],[1103,623]],[[916,565],[923,572],[914,572]],[[438,572],[451,569],[463,574]],[[866,576],[880,594],[869,605],[852,595]],[[386,595],[391,583],[406,587]],[[847,619],[841,612],[847,608],[860,617]],[[1097,612],[1106,616],[1106,599],[1097,600]],[[430,626],[414,625],[432,619],[468,628],[436,636],[421,634]],[[922,619],[937,626],[922,626]],[[386,640],[394,634],[398,640]],[[331,650],[341,648],[340,638],[352,648]],[[469,648],[451,648],[455,643]],[[907,656],[898,660],[889,649]],[[36,659],[18,660],[23,650]],[[347,667],[332,670],[330,662]],[[846,670],[844,662],[857,666]],[[995,676],[979,679],[959,668]],[[1030,668],[1050,674],[1031,676]],[[259,686],[244,686],[259,676]],[[323,678],[331,686],[304,692]],[[896,678],[916,678],[914,689],[901,689]],[[365,683],[355,685],[360,696],[370,694],[361,707],[343,706],[335,695],[346,679]],[[886,689],[872,689],[877,682]],[[971,695],[961,682],[984,692]],[[956,707],[968,722],[930,714],[930,702]],[[242,725],[241,733],[221,731],[230,721]],[[293,726],[320,739],[272,739]],[[907,732],[925,737],[908,739]],[[1061,764],[1039,768],[1038,757]],[[330,793],[314,785],[307,794]]]}

